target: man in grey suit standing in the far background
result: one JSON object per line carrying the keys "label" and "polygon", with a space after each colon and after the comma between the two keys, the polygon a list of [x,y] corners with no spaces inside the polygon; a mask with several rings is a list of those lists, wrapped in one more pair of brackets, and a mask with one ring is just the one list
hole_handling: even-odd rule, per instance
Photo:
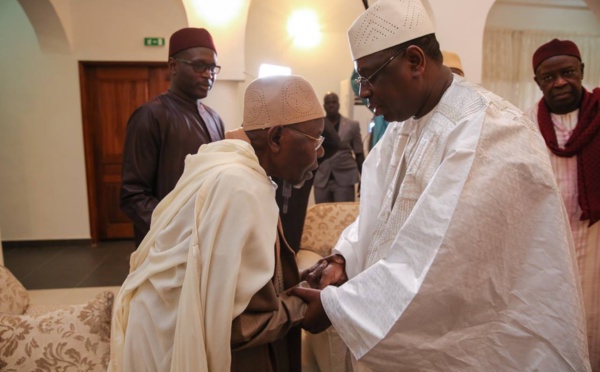
{"label": "man in grey suit standing in the far background", "polygon": [[314,181],[315,202],[352,202],[365,160],[360,124],[340,114],[340,100],[333,92],[325,94],[323,107],[325,121],[337,131],[340,145],[332,157],[319,164]]}

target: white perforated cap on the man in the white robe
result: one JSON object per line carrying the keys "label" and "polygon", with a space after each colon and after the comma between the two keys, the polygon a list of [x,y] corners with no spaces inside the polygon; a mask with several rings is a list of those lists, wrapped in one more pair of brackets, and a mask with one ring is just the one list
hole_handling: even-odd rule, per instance
{"label": "white perforated cap on the man in the white robe", "polygon": [[350,26],[348,41],[357,60],[434,32],[420,0],[379,0]]}

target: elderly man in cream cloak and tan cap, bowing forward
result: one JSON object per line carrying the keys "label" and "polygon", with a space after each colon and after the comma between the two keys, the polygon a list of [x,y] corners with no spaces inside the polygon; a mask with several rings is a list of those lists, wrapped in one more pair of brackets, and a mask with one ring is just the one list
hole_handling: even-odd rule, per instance
{"label": "elderly man in cream cloak and tan cap, bowing forward", "polygon": [[113,316],[112,371],[299,371],[305,305],[271,176],[302,185],[323,109],[299,76],[255,80],[243,127],[200,147],[157,206]]}

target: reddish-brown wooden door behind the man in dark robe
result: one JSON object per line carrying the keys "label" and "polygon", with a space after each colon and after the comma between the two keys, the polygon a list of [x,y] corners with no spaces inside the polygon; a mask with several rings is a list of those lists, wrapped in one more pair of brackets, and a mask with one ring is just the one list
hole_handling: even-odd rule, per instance
{"label": "reddish-brown wooden door behind the man in dark robe", "polygon": [[169,88],[167,64],[80,62],[80,81],[92,240],[131,238],[119,208],[125,129],[138,106]]}

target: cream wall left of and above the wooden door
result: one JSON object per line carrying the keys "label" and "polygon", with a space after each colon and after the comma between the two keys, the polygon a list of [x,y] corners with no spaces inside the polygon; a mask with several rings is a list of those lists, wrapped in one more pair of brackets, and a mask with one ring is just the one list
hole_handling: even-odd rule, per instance
{"label": "cream wall left of and above the wooden door", "polygon": [[37,23],[41,33],[35,34],[17,0],[0,1],[4,240],[90,237],[78,61],[165,61],[167,48],[144,47],[143,38],[168,40],[187,25],[183,5],[174,5],[54,0],[70,41],[65,50],[47,40],[47,24]]}

